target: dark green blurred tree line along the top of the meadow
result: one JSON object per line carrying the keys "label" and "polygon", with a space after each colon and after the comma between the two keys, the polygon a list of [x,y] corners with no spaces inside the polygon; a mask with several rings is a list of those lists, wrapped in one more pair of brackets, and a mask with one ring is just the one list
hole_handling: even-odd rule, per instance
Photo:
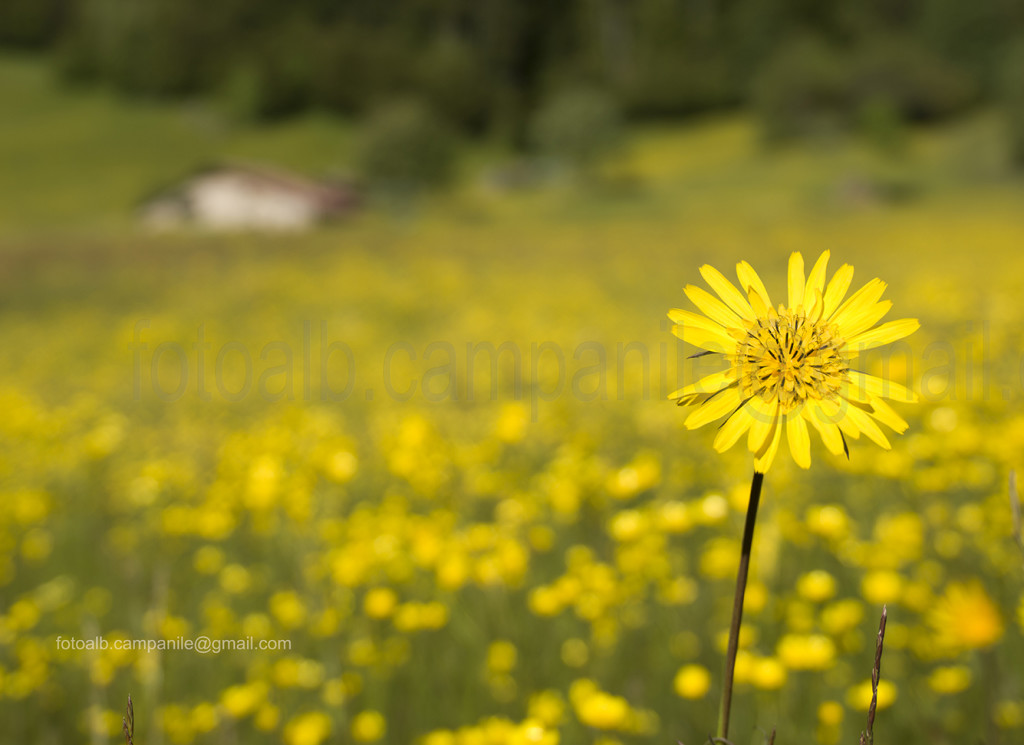
{"label": "dark green blurred tree line along the top of the meadow", "polygon": [[1024,0],[0,2],[0,44],[50,50],[71,80],[256,118],[411,95],[513,140],[581,85],[632,118],[752,104],[779,135],[872,106],[943,118],[1008,95],[1021,39]]}

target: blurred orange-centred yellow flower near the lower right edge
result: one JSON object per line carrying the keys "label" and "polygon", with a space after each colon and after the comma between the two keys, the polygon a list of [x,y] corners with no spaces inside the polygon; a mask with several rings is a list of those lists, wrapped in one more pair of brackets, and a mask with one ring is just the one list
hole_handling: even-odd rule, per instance
{"label": "blurred orange-centred yellow flower near the lower right edge", "polygon": [[984,649],[1002,638],[1002,616],[977,579],[950,582],[928,620],[938,642],[951,650]]}

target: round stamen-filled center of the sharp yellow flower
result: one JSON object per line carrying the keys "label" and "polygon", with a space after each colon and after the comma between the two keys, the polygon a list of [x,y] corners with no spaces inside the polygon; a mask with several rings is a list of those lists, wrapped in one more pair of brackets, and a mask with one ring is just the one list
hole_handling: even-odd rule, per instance
{"label": "round stamen-filled center of the sharp yellow flower", "polygon": [[808,398],[834,399],[849,369],[844,346],[835,325],[780,308],[752,323],[737,345],[739,390],[743,398],[778,399],[783,413]]}

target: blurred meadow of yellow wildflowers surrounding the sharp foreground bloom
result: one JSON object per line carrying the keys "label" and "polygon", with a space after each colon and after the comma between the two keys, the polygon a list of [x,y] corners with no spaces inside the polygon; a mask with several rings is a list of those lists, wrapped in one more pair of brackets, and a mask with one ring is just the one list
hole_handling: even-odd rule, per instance
{"label": "blurred meadow of yellow wildflowers surrounding the sharp foreground bloom", "polygon": [[3,240],[0,743],[116,741],[129,694],[140,745],[707,741],[753,466],[667,400],[712,368],[666,313],[824,248],[921,319],[866,364],[922,401],[768,475],[732,739],[856,742],[887,604],[880,738],[1020,742],[1021,194],[757,186]]}

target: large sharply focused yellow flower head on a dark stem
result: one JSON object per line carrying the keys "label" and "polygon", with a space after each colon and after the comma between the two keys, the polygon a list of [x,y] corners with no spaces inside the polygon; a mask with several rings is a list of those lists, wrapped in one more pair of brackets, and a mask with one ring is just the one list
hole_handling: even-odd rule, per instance
{"label": "large sharply focused yellow flower head on a dark stem", "polygon": [[872,279],[844,303],[853,267],[844,264],[826,287],[827,262],[825,251],[805,277],[804,258],[794,253],[788,305],[779,304],[778,310],[745,261],[736,267],[741,290],[705,265],[700,273],[721,300],[689,284],[686,296],[705,315],[669,312],[676,336],[729,363],[670,396],[680,405],[697,405],[686,419],[687,429],[728,415],[715,437],[715,449],[724,452],[748,433],[760,473],[775,459],[783,429],[797,465],[811,465],[808,424],[837,455],[848,452],[846,437],[862,433],[889,449],[876,420],[899,433],[907,425],[883,398],[916,401],[903,386],[853,369],[851,361],[860,352],[912,334],[920,323],[904,318],[876,326],[892,306],[879,302],[886,283]]}

